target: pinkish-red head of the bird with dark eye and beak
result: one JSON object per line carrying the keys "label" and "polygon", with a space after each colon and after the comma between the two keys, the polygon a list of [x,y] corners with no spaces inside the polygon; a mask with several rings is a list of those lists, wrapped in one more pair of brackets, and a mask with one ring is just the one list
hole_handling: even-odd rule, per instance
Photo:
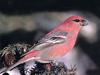
{"label": "pinkish-red head of the bird with dark eye and beak", "polygon": [[88,25],[87,20],[81,16],[71,16],[66,20],[70,25],[77,25],[79,27]]}

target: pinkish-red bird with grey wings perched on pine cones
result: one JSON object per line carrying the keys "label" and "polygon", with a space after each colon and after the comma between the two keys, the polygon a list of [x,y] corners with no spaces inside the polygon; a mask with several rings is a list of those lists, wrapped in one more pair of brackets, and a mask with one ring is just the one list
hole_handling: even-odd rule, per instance
{"label": "pinkish-red bird with grey wings perched on pine cones", "polygon": [[7,70],[12,70],[16,66],[31,60],[48,63],[63,57],[72,50],[81,28],[86,25],[88,25],[88,22],[82,16],[67,18],[41,38],[29,52],[14,65],[8,67]]}

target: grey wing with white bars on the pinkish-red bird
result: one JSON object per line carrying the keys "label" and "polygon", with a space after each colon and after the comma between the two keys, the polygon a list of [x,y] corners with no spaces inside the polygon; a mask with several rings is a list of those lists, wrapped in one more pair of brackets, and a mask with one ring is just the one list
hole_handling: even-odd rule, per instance
{"label": "grey wing with white bars on the pinkish-red bird", "polygon": [[43,50],[46,47],[50,47],[55,44],[60,44],[65,42],[68,32],[65,31],[57,31],[47,34],[38,43],[34,46],[35,50]]}

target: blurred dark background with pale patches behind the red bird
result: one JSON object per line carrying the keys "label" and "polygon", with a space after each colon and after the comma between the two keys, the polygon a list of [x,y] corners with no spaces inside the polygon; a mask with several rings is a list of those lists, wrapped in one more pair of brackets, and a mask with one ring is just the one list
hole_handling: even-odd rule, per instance
{"label": "blurred dark background with pale patches behind the red bird", "polygon": [[32,45],[72,15],[84,16],[89,25],[81,30],[67,64],[78,64],[77,75],[100,75],[99,0],[0,0],[0,49]]}

